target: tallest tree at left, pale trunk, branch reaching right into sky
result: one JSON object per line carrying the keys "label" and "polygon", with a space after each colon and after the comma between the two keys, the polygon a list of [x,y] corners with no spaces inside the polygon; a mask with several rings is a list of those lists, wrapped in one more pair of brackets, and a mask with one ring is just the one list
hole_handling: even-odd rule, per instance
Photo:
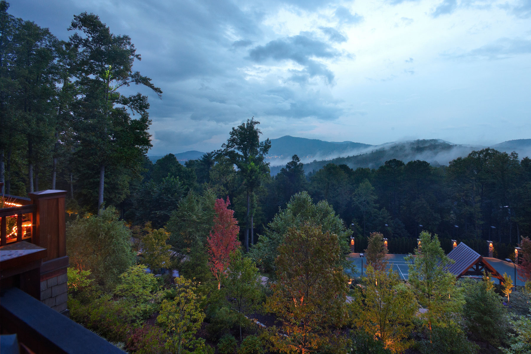
{"label": "tallest tree at left, pale trunk, branch reaching right into sky", "polygon": [[[131,38],[111,33],[97,15],[75,15],[68,30],[74,31],[70,43],[78,49],[74,75],[82,97],[74,107],[76,129],[81,133],[75,159],[83,177],[79,183],[85,184],[80,193],[90,198],[91,191],[97,190],[99,212],[104,203],[105,169],[126,186],[124,182],[131,175],[126,171],[138,169],[141,156],[151,147],[148,98],[140,93],[125,96],[119,89],[134,83],[152,89],[159,97],[162,91],[149,77],[133,71],[133,62],[141,57]],[[130,113],[138,117],[132,119]],[[97,166],[96,171],[93,166]],[[112,202],[121,202],[125,195],[118,197]]]}

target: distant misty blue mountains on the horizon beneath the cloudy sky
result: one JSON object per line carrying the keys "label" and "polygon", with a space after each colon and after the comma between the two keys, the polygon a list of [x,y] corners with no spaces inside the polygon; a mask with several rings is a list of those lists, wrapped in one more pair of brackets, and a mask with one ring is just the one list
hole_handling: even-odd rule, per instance
{"label": "distant misty blue mountains on the horizon beneath the cloudy sky", "polygon": [[[318,170],[327,163],[342,163],[350,168],[378,168],[387,160],[398,159],[404,162],[425,160],[434,166],[448,165],[458,157],[467,156],[473,150],[481,150],[487,146],[453,144],[440,139],[412,140],[390,142],[381,145],[369,145],[352,141],[329,142],[303,137],[282,136],[271,139],[271,149],[266,156],[270,162],[271,175],[276,175],[288,161],[297,154],[304,162],[304,170]],[[505,152],[516,151],[520,158],[531,156],[531,139],[504,141],[491,145],[493,149]],[[175,154],[178,161],[198,159],[204,152],[186,151]],[[149,156],[155,162],[162,156]]]}

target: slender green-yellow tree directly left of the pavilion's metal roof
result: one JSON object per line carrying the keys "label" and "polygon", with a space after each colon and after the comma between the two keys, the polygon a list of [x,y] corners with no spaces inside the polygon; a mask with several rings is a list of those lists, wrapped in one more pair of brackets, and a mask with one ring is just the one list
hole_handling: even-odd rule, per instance
{"label": "slender green-yellow tree directly left of the pavilion's metal roof", "polygon": [[421,246],[415,249],[415,257],[409,255],[408,282],[412,285],[415,296],[421,307],[427,309],[421,315],[430,330],[432,326],[444,327],[452,325],[452,314],[460,313],[463,300],[456,288],[456,277],[446,267],[453,261],[441,248],[437,235],[422,231],[419,236]]}

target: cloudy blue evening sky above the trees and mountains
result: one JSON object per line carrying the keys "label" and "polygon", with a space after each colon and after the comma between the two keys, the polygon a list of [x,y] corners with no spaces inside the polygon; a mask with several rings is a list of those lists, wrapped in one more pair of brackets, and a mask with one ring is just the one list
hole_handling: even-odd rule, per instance
{"label": "cloudy blue evening sky above the trees and mountains", "polygon": [[[74,14],[132,38],[150,154],[210,151],[260,120],[283,135],[367,144],[531,138],[531,0],[16,0],[61,39]],[[138,87],[134,88],[138,89]]]}

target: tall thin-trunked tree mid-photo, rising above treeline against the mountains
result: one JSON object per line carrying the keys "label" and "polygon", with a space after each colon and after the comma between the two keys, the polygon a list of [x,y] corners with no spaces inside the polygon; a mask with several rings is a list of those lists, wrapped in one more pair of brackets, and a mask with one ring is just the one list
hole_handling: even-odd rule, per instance
{"label": "tall thin-trunked tree mid-photo, rising above treeline against the mountains", "polygon": [[262,132],[256,125],[258,120],[247,119],[236,128],[232,128],[227,142],[221,145],[219,153],[226,156],[238,168],[243,178],[247,196],[247,212],[245,214],[245,250],[249,252],[249,232],[253,243],[253,214],[251,214],[251,196],[259,187],[264,175],[269,173],[269,163],[264,162],[264,155],[271,148],[269,139],[260,142]]}

